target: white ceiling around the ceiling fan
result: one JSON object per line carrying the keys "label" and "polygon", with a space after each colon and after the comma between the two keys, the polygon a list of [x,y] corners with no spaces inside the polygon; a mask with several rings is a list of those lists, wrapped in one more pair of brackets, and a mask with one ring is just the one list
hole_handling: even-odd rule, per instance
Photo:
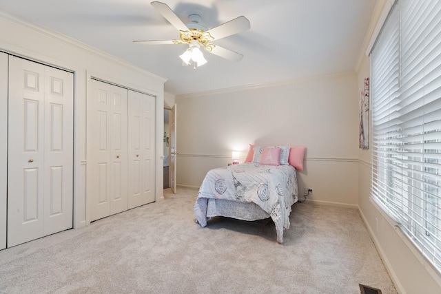
{"label": "white ceiling around the ceiling fan", "polygon": [[243,15],[251,28],[214,41],[239,62],[204,52],[193,70],[178,55],[187,45],[134,45],[179,39],[150,0],[2,0],[0,10],[70,36],[167,78],[165,91],[188,94],[356,69],[377,0],[163,0],[184,23],[200,14],[214,28]]}

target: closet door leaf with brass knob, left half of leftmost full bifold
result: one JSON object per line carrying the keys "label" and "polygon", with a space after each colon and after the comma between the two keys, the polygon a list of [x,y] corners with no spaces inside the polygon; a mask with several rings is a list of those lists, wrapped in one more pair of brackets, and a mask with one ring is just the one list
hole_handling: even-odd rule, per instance
{"label": "closet door leaf with brass knob, left half of leftmost full bifold", "polygon": [[44,235],[44,67],[10,57],[8,246]]}

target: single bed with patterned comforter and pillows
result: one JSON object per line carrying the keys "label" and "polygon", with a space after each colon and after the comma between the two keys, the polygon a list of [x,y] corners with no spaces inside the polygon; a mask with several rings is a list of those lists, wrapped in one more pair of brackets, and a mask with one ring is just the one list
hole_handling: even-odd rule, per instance
{"label": "single bed with patterned comforter and pillows", "polygon": [[[292,149],[285,147],[286,154],[280,156],[280,147],[250,145],[252,148],[256,155],[251,159],[248,154],[250,159],[245,161],[249,162],[207,172],[194,204],[194,216],[201,227],[207,226],[207,220],[214,216],[248,221],[271,218],[277,241],[282,243],[283,230],[289,229],[291,207],[298,200],[296,168],[289,163]],[[264,148],[279,149],[271,155],[277,160],[265,161],[268,154]]]}

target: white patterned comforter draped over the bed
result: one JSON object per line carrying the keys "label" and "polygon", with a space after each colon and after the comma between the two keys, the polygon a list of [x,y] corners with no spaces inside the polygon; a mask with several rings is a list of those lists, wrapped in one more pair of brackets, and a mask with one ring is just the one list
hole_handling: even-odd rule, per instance
{"label": "white patterned comforter draped over the bed", "polygon": [[298,194],[296,169],[291,165],[243,163],[208,171],[199,189],[194,216],[201,227],[207,225],[208,199],[254,202],[276,225],[277,241],[289,229],[289,213]]}

